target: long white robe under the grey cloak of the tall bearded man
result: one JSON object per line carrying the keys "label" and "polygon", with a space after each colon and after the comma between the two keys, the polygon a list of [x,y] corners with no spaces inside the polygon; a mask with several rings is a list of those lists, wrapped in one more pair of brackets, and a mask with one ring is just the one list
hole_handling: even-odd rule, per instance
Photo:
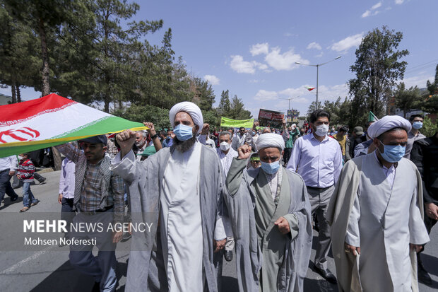
{"label": "long white robe under the grey cloak of the tall bearded man", "polygon": [[174,151],[162,180],[160,228],[169,291],[203,290],[200,159],[199,143],[185,153]]}

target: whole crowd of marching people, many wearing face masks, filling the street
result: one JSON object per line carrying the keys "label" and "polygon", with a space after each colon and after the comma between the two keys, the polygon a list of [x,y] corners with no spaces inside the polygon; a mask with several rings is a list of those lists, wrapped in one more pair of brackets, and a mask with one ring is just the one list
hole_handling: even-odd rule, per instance
{"label": "whole crowd of marching people, many wearing face masks, filling the street", "polygon": [[[438,132],[422,135],[421,115],[386,116],[351,134],[324,110],[302,127],[283,119],[281,129],[211,131],[189,102],[169,118],[172,129],[145,122],[144,132],[57,146],[66,156],[61,218],[152,226],[86,235],[99,238],[97,257],[93,246],[71,247],[93,291],[115,290],[115,247],[129,238],[126,291],[223,291],[223,259],[233,255],[239,291],[304,291],[314,232],[314,271],[339,291],[432,284],[420,253],[438,219]],[[0,159],[0,202],[5,192],[18,198],[9,182],[17,175],[27,211],[38,202],[28,187],[35,168],[27,153],[14,157]]]}

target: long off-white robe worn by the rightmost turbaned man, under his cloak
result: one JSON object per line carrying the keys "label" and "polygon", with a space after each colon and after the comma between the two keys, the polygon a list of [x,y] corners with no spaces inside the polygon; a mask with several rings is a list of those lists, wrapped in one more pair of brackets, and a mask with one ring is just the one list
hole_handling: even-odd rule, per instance
{"label": "long off-white robe worn by the rightmost turbaned man, under his cloak", "polygon": [[360,246],[363,291],[412,291],[409,243],[429,241],[417,206],[415,166],[403,158],[387,173],[375,153],[362,157],[345,242]]}

